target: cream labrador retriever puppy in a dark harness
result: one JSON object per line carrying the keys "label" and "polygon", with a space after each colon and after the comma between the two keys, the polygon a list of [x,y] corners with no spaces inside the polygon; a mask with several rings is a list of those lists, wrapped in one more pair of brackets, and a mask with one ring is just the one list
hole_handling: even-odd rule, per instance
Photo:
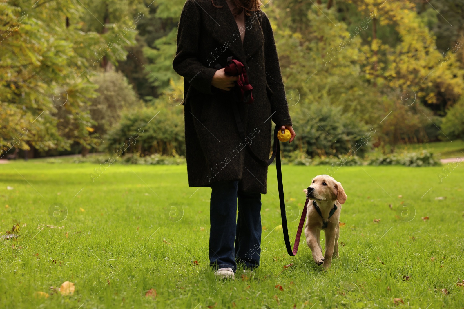
{"label": "cream labrador retriever puppy in a dark harness", "polygon": [[[311,200],[306,213],[304,234],[306,244],[313,253],[317,265],[328,269],[332,263],[332,256],[338,257],[338,220],[342,205],[347,195],[342,184],[329,175],[319,175],[313,178],[311,185],[303,192]],[[319,240],[321,230],[325,231],[325,253]]]}

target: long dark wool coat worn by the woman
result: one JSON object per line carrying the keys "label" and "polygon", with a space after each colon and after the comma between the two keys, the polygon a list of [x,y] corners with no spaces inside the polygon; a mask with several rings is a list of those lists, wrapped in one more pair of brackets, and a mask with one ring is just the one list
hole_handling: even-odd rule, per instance
{"label": "long dark wool coat worn by the woman", "polygon": [[[180,15],[174,70],[184,76],[185,144],[188,183],[210,187],[219,181],[241,180],[239,189],[266,193],[267,166],[256,163],[238,135],[231,92],[211,86],[227,57],[244,63],[253,87],[252,104],[238,103],[253,152],[267,160],[271,151],[271,120],[292,125],[285,99],[277,49],[266,14],[251,12],[245,40],[226,0],[187,0]],[[243,31],[243,29],[242,29]]]}

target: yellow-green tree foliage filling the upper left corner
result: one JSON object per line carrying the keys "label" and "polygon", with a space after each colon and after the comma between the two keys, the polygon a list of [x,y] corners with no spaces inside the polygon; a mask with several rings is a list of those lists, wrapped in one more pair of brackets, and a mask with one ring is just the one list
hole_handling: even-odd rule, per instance
{"label": "yellow-green tree foliage filling the upper left corner", "polygon": [[[28,133],[20,149],[100,143],[89,130],[96,124],[90,99],[97,95],[90,77],[101,65],[125,58],[124,47],[135,38],[128,24],[133,17],[126,19],[126,13],[138,10],[133,1],[83,2],[0,5],[0,145],[11,143],[24,128]],[[103,13],[89,11],[103,7]]]}

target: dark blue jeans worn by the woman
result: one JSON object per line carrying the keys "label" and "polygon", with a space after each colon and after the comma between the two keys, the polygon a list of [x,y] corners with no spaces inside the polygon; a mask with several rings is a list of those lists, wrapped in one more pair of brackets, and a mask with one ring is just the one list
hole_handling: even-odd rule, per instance
{"label": "dark blue jeans worn by the woman", "polygon": [[[215,269],[237,262],[245,268],[259,266],[261,254],[261,194],[238,190],[238,181],[211,185],[209,260]],[[237,222],[237,199],[238,217]]]}

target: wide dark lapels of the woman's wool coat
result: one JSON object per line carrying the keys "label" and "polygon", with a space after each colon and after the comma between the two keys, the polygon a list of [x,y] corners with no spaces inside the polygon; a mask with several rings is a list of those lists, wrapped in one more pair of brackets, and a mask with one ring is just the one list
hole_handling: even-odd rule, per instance
{"label": "wide dark lapels of the woman's wool coat", "polygon": [[215,0],[216,16],[213,30],[213,38],[232,52],[236,59],[247,66],[247,60],[264,44],[264,36],[259,24],[259,13],[253,12],[246,16],[245,39],[242,44],[240,31],[226,0]]}

